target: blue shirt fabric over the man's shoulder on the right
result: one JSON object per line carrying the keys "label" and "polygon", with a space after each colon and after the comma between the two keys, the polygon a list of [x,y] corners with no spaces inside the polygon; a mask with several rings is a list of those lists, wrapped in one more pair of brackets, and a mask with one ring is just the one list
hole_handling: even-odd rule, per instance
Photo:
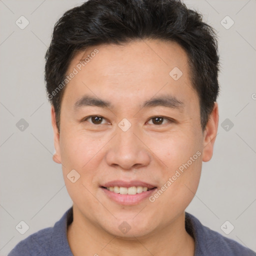
{"label": "blue shirt fabric over the man's shoulder on the right", "polygon": [[190,213],[185,212],[185,221],[187,232],[195,240],[195,256],[256,256],[251,249],[202,225]]}

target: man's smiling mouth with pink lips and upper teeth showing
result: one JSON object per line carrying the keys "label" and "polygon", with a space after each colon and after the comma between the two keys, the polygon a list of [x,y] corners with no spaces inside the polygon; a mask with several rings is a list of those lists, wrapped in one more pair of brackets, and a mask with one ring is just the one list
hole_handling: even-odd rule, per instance
{"label": "man's smiling mouth with pink lips and upper teeth showing", "polygon": [[148,198],[157,189],[155,185],[141,181],[111,181],[100,186],[108,199],[122,205],[134,205]]}

